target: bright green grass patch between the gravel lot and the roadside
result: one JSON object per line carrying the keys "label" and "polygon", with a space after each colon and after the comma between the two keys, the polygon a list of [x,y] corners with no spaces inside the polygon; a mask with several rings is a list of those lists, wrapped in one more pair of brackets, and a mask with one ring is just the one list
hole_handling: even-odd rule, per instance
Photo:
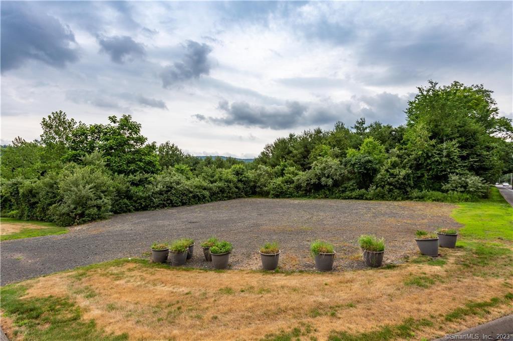
{"label": "bright green grass patch between the gravel lot and the roadside", "polygon": [[460,203],[458,206],[452,212],[452,218],[464,225],[460,229],[462,237],[513,241],[513,207],[496,187],[491,187],[490,198]]}

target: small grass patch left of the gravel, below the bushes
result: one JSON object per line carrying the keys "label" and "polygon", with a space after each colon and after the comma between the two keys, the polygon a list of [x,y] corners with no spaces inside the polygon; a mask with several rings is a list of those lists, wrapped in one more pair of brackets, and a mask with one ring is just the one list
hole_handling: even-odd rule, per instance
{"label": "small grass patch left of the gravel, below the bushes", "polygon": [[21,238],[41,237],[48,235],[62,235],[68,232],[66,227],[59,227],[54,223],[33,220],[19,220],[13,218],[0,218],[0,241]]}

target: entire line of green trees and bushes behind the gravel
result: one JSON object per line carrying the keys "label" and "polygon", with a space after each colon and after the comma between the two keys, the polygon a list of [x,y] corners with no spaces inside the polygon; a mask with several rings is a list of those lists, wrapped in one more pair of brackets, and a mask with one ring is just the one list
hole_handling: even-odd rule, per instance
{"label": "entire line of green trees and bushes behind the gravel", "polygon": [[54,112],[39,140],[2,147],[1,213],[67,226],[248,196],[472,201],[513,172],[511,120],[482,85],[429,81],[405,114],[290,134],[244,163],[148,143],[130,115],[88,125]]}

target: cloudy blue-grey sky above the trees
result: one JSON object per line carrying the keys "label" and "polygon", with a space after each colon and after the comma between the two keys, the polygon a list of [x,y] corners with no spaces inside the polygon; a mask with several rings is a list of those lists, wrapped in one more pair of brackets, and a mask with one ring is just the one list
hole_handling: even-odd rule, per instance
{"label": "cloudy blue-grey sky above the trees", "polygon": [[290,132],[404,123],[428,79],[512,112],[511,2],[2,2],[2,143],[63,110],[253,157]]}

